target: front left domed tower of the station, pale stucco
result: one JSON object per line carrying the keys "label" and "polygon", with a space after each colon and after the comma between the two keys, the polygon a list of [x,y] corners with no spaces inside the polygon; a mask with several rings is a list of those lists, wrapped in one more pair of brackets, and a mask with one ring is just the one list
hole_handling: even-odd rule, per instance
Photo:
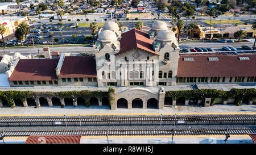
{"label": "front left domed tower of the station, pale stucco", "polygon": [[112,30],[100,32],[95,48],[98,86],[107,86],[109,82],[115,82],[115,53],[120,50],[115,32]]}

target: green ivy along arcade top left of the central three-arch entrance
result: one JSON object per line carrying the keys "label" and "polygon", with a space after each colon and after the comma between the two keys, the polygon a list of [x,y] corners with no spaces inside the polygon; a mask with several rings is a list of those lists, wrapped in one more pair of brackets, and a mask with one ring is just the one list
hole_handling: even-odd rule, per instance
{"label": "green ivy along arcade top left of the central three-arch entrance", "polygon": [[[14,99],[20,99],[22,102],[26,98],[34,97],[58,97],[60,99],[63,98],[71,98],[71,95],[74,95],[76,98],[89,98],[89,97],[104,97],[108,95],[107,91],[90,91],[90,90],[81,90],[81,91],[59,91],[59,92],[52,92],[52,91],[16,91],[16,90],[9,90],[9,91],[0,91],[0,99],[5,99],[6,102],[9,104],[10,107],[14,107]],[[90,103],[85,100],[85,106],[89,107]]]}

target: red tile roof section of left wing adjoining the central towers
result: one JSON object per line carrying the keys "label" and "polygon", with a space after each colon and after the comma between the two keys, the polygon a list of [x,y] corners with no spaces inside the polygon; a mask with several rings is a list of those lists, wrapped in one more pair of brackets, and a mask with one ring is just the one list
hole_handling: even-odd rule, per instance
{"label": "red tile roof section of left wing adjoining the central towers", "polygon": [[59,78],[97,77],[96,61],[93,56],[67,56]]}

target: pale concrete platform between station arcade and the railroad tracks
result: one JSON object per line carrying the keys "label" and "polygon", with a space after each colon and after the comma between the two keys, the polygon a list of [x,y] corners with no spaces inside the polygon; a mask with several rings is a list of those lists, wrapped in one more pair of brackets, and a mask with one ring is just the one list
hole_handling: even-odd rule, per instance
{"label": "pale concrete platform between station arcade and the railroad tracks", "polygon": [[215,104],[212,107],[200,106],[170,106],[164,107],[163,110],[158,109],[142,109],[142,108],[118,108],[110,110],[110,106],[60,106],[53,107],[3,107],[0,108],[0,116],[19,116],[19,115],[135,115],[135,114],[256,114],[256,105],[242,104],[240,107],[228,104]]}

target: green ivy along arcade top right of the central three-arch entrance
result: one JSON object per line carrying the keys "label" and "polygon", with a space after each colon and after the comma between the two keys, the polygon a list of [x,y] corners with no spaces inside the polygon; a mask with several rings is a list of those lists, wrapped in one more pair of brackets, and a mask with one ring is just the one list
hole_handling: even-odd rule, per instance
{"label": "green ivy along arcade top right of the central three-arch entrance", "polygon": [[211,98],[211,106],[215,104],[216,98],[222,98],[225,101],[234,98],[236,105],[240,106],[242,99],[256,99],[256,89],[231,89],[230,91],[216,89],[166,91],[166,97],[170,97],[174,100],[181,97],[187,100],[190,98],[201,98],[202,95],[204,95],[204,98]]}

